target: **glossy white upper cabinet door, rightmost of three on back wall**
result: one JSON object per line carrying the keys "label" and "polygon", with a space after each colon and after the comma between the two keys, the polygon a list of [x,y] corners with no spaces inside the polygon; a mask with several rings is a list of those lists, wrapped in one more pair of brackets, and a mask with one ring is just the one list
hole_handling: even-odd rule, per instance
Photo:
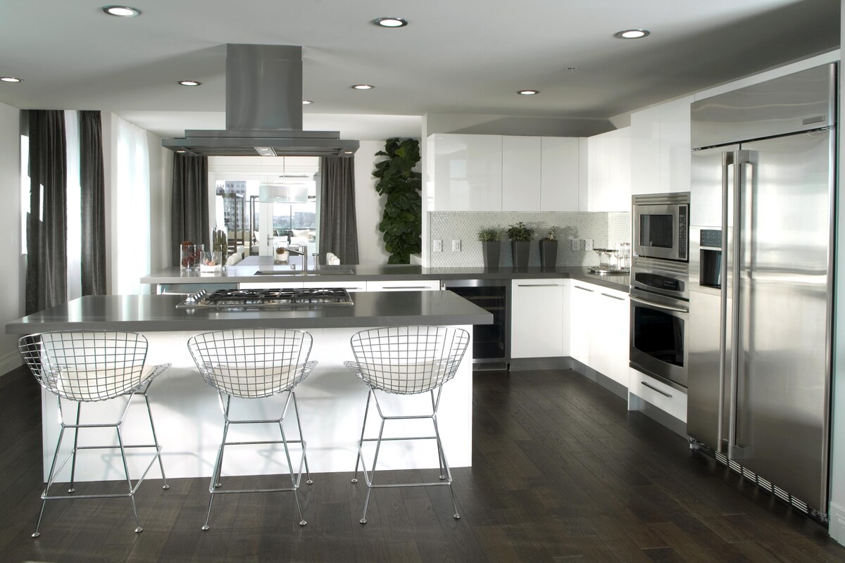
{"label": "glossy white upper cabinet door, rightmost of three on back wall", "polygon": [[540,141],[540,211],[581,211],[581,139]]}

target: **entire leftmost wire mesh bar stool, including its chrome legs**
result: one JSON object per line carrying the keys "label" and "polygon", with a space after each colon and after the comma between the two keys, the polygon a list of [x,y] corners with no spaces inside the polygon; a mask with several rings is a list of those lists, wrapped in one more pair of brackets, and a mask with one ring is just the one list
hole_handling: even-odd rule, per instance
{"label": "entire leftmost wire mesh bar stool, including its chrome legs", "polygon": [[[161,463],[161,446],[155,436],[155,424],[153,414],[150,410],[150,398],[147,392],[150,390],[150,383],[155,377],[166,371],[170,364],[144,365],[147,354],[147,339],[141,334],[124,333],[117,331],[57,331],[50,333],[30,334],[18,341],[20,355],[23,356],[25,364],[35,379],[47,391],[56,395],[58,402],[59,422],[62,425],[56,444],[56,452],[53,454],[50,472],[47,474],[46,486],[41,493],[41,512],[38,514],[38,522],[35,524],[33,538],[40,533],[41,517],[44,516],[46,501],[60,499],[89,499],[89,498],[115,498],[129,497],[132,504],[132,513],[135,517],[135,532],[142,532],[138,520],[138,510],[135,507],[135,491],[144,481],[155,460],[158,460],[161,469],[161,478],[164,479],[162,488],[169,489],[164,473],[164,465]],[[136,396],[144,398],[147,407],[147,415],[150,418],[150,430],[152,430],[152,444],[124,444],[121,427],[125,422],[126,414],[132,399]],[[83,403],[94,403],[110,399],[125,398],[126,404],[117,416],[117,422],[103,422],[96,424],[80,424],[80,414]],[[63,411],[63,399],[66,402],[76,403],[76,420],[74,423],[65,422]],[[61,465],[56,467],[59,450],[62,447],[64,431],[74,430],[74,447],[68,457],[65,457]],[[79,430],[96,428],[114,428],[117,432],[117,446],[79,446]],[[126,450],[128,448],[155,448],[155,456],[144,470],[144,474],[132,485],[129,478],[129,469],[126,463]],[[126,475],[128,492],[108,495],[73,495],[74,479],[76,474],[76,455],[79,450],[112,449],[120,450],[123,461],[123,473]],[[50,495],[50,487],[53,479],[68,463],[70,464],[70,488],[68,495]]]}

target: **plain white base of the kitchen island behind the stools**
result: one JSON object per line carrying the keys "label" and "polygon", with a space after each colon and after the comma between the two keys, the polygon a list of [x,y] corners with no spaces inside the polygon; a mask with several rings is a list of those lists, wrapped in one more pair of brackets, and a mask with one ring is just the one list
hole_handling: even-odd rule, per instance
{"label": "plain white base of the kitchen island behind the stools", "polygon": [[[471,326],[461,326],[472,335]],[[303,434],[308,443],[308,465],[312,473],[352,472],[357,457],[357,440],[361,434],[368,387],[343,365],[352,360],[349,340],[353,333],[363,328],[312,328],[311,360],[319,364],[296,389]],[[190,332],[147,332],[150,348],[146,363],[155,365],[171,363],[172,367],[159,376],[150,387],[150,403],[155,420],[155,430],[161,444],[161,455],[168,478],[210,477],[217,448],[223,431],[223,417],[220,400],[214,388],[207,385],[199,375],[194,361],[188,354],[187,341],[198,331]],[[284,403],[283,397],[269,399],[232,399],[232,418],[245,414],[245,418],[277,418]],[[383,408],[398,409],[401,414],[413,410],[416,414],[431,412],[428,393],[415,396],[388,395],[379,392]],[[238,404],[235,405],[235,401]],[[129,409],[127,424],[123,428],[124,442],[151,443],[150,425],[146,418],[142,398],[134,398]],[[56,397],[42,391],[44,436],[44,474],[50,469],[52,454],[60,426]],[[116,401],[85,403],[82,408],[82,422],[98,420],[109,413],[117,413]],[[397,413],[396,410],[392,413]],[[75,415],[74,404],[65,407],[66,420]],[[88,417],[91,416],[89,419]],[[444,452],[450,466],[472,465],[472,341],[455,378],[443,387],[438,424]],[[368,420],[368,437],[377,436],[379,417],[371,404]],[[286,415],[285,431],[288,439],[296,439],[296,420],[292,409]],[[265,441],[281,436],[277,425],[231,425],[227,441]],[[384,436],[433,436],[430,421],[388,421]],[[92,440],[92,438],[95,438]],[[92,443],[115,443],[117,437],[112,429],[87,430],[79,433],[79,445]],[[63,452],[70,452],[73,445],[73,431],[66,431]],[[365,445],[368,467],[372,464],[374,446]],[[294,469],[300,457],[297,446],[291,449]],[[150,450],[128,451],[129,474],[138,479],[150,463]],[[60,462],[63,457],[60,457]],[[379,469],[437,468],[437,448],[433,440],[388,441],[379,452]],[[223,476],[288,473],[284,448],[279,445],[226,447]],[[70,463],[54,479],[67,482],[70,479]],[[148,479],[160,478],[155,464],[150,468]],[[77,481],[101,481],[124,479],[123,465],[119,451],[87,450],[79,453]]]}

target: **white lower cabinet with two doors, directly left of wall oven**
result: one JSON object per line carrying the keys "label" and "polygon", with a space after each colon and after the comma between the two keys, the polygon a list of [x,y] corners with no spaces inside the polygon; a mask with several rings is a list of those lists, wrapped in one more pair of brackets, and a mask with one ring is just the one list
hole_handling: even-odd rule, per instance
{"label": "white lower cabinet with two doors, directly left of wall oven", "polygon": [[574,280],[570,311],[570,355],[628,387],[628,294]]}

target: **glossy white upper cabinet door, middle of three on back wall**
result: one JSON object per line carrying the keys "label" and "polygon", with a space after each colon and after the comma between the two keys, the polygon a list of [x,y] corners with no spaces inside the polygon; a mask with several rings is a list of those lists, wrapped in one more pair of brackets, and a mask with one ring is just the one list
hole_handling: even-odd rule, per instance
{"label": "glossy white upper cabinet door, middle of three on back wall", "polygon": [[540,138],[502,138],[502,210],[540,210]]}

